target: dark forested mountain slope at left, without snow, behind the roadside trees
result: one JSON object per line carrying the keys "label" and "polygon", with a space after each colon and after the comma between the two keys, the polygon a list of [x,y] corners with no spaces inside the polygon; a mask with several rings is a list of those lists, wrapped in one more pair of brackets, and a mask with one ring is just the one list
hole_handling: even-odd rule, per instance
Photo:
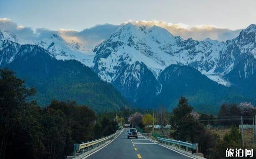
{"label": "dark forested mountain slope at left, without snow, behind the roadside trees", "polygon": [[[3,51],[10,51],[4,49]],[[19,54],[8,64],[15,76],[25,85],[36,88],[37,93],[28,100],[47,106],[51,100],[75,100],[99,111],[123,110],[131,107],[115,88],[102,81],[93,70],[76,60],[57,60],[50,53],[34,45],[20,45]]]}

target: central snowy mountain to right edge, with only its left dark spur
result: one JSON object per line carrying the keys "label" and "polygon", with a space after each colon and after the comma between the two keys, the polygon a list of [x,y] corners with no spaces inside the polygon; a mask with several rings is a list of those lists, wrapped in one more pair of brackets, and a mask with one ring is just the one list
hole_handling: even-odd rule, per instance
{"label": "central snowy mountain to right edge, with only its left dark spur", "polygon": [[164,86],[159,76],[172,64],[190,66],[212,81],[232,86],[228,73],[247,57],[255,59],[255,27],[252,24],[235,39],[218,42],[184,40],[161,27],[128,23],[95,47],[93,70],[133,103],[147,99],[143,95],[154,98],[161,94]]}

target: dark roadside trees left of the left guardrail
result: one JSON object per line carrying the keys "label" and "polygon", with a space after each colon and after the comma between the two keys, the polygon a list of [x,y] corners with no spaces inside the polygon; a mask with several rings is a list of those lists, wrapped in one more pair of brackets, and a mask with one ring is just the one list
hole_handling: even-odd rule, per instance
{"label": "dark roadside trees left of the left guardrail", "polygon": [[64,159],[73,144],[113,134],[117,122],[75,101],[52,100],[45,108],[26,99],[36,93],[13,71],[0,70],[0,158]]}

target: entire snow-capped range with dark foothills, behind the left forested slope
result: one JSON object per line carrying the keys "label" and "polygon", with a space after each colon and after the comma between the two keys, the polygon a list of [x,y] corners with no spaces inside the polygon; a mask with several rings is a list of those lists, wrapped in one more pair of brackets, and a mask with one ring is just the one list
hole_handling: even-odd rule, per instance
{"label": "entire snow-capped range with dark foothills, behind the left forested slope", "polygon": [[[226,42],[184,40],[161,27],[128,23],[93,51],[86,50],[78,41],[66,42],[58,34],[29,43],[43,47],[56,59],[76,59],[92,67],[101,79],[111,83],[125,98],[140,107],[152,105],[154,100],[171,105],[171,98],[166,95],[173,94],[171,88],[179,90],[173,94],[177,98],[188,95],[197,101],[202,101],[202,98],[205,101],[206,96],[211,96],[215,101],[217,98],[223,100],[223,95],[232,90],[236,90],[233,94],[237,93],[238,97],[242,97],[241,92],[246,95],[246,89],[253,93],[254,87],[249,85],[256,86],[255,24]],[[15,34],[0,32],[1,67],[15,59],[21,44],[24,40]],[[207,92],[202,83],[206,83],[211,92]],[[223,93],[221,96],[219,90]],[[237,96],[232,98],[238,100]]]}

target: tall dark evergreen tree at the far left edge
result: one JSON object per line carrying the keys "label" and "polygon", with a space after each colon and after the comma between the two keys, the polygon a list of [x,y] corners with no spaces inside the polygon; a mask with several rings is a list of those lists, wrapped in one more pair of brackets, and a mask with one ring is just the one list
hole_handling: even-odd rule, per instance
{"label": "tall dark evergreen tree at the far left edge", "polygon": [[35,94],[35,89],[25,87],[25,81],[14,76],[13,71],[0,70],[0,158],[5,159],[5,152],[12,146],[15,127],[19,125],[25,107],[25,99]]}

